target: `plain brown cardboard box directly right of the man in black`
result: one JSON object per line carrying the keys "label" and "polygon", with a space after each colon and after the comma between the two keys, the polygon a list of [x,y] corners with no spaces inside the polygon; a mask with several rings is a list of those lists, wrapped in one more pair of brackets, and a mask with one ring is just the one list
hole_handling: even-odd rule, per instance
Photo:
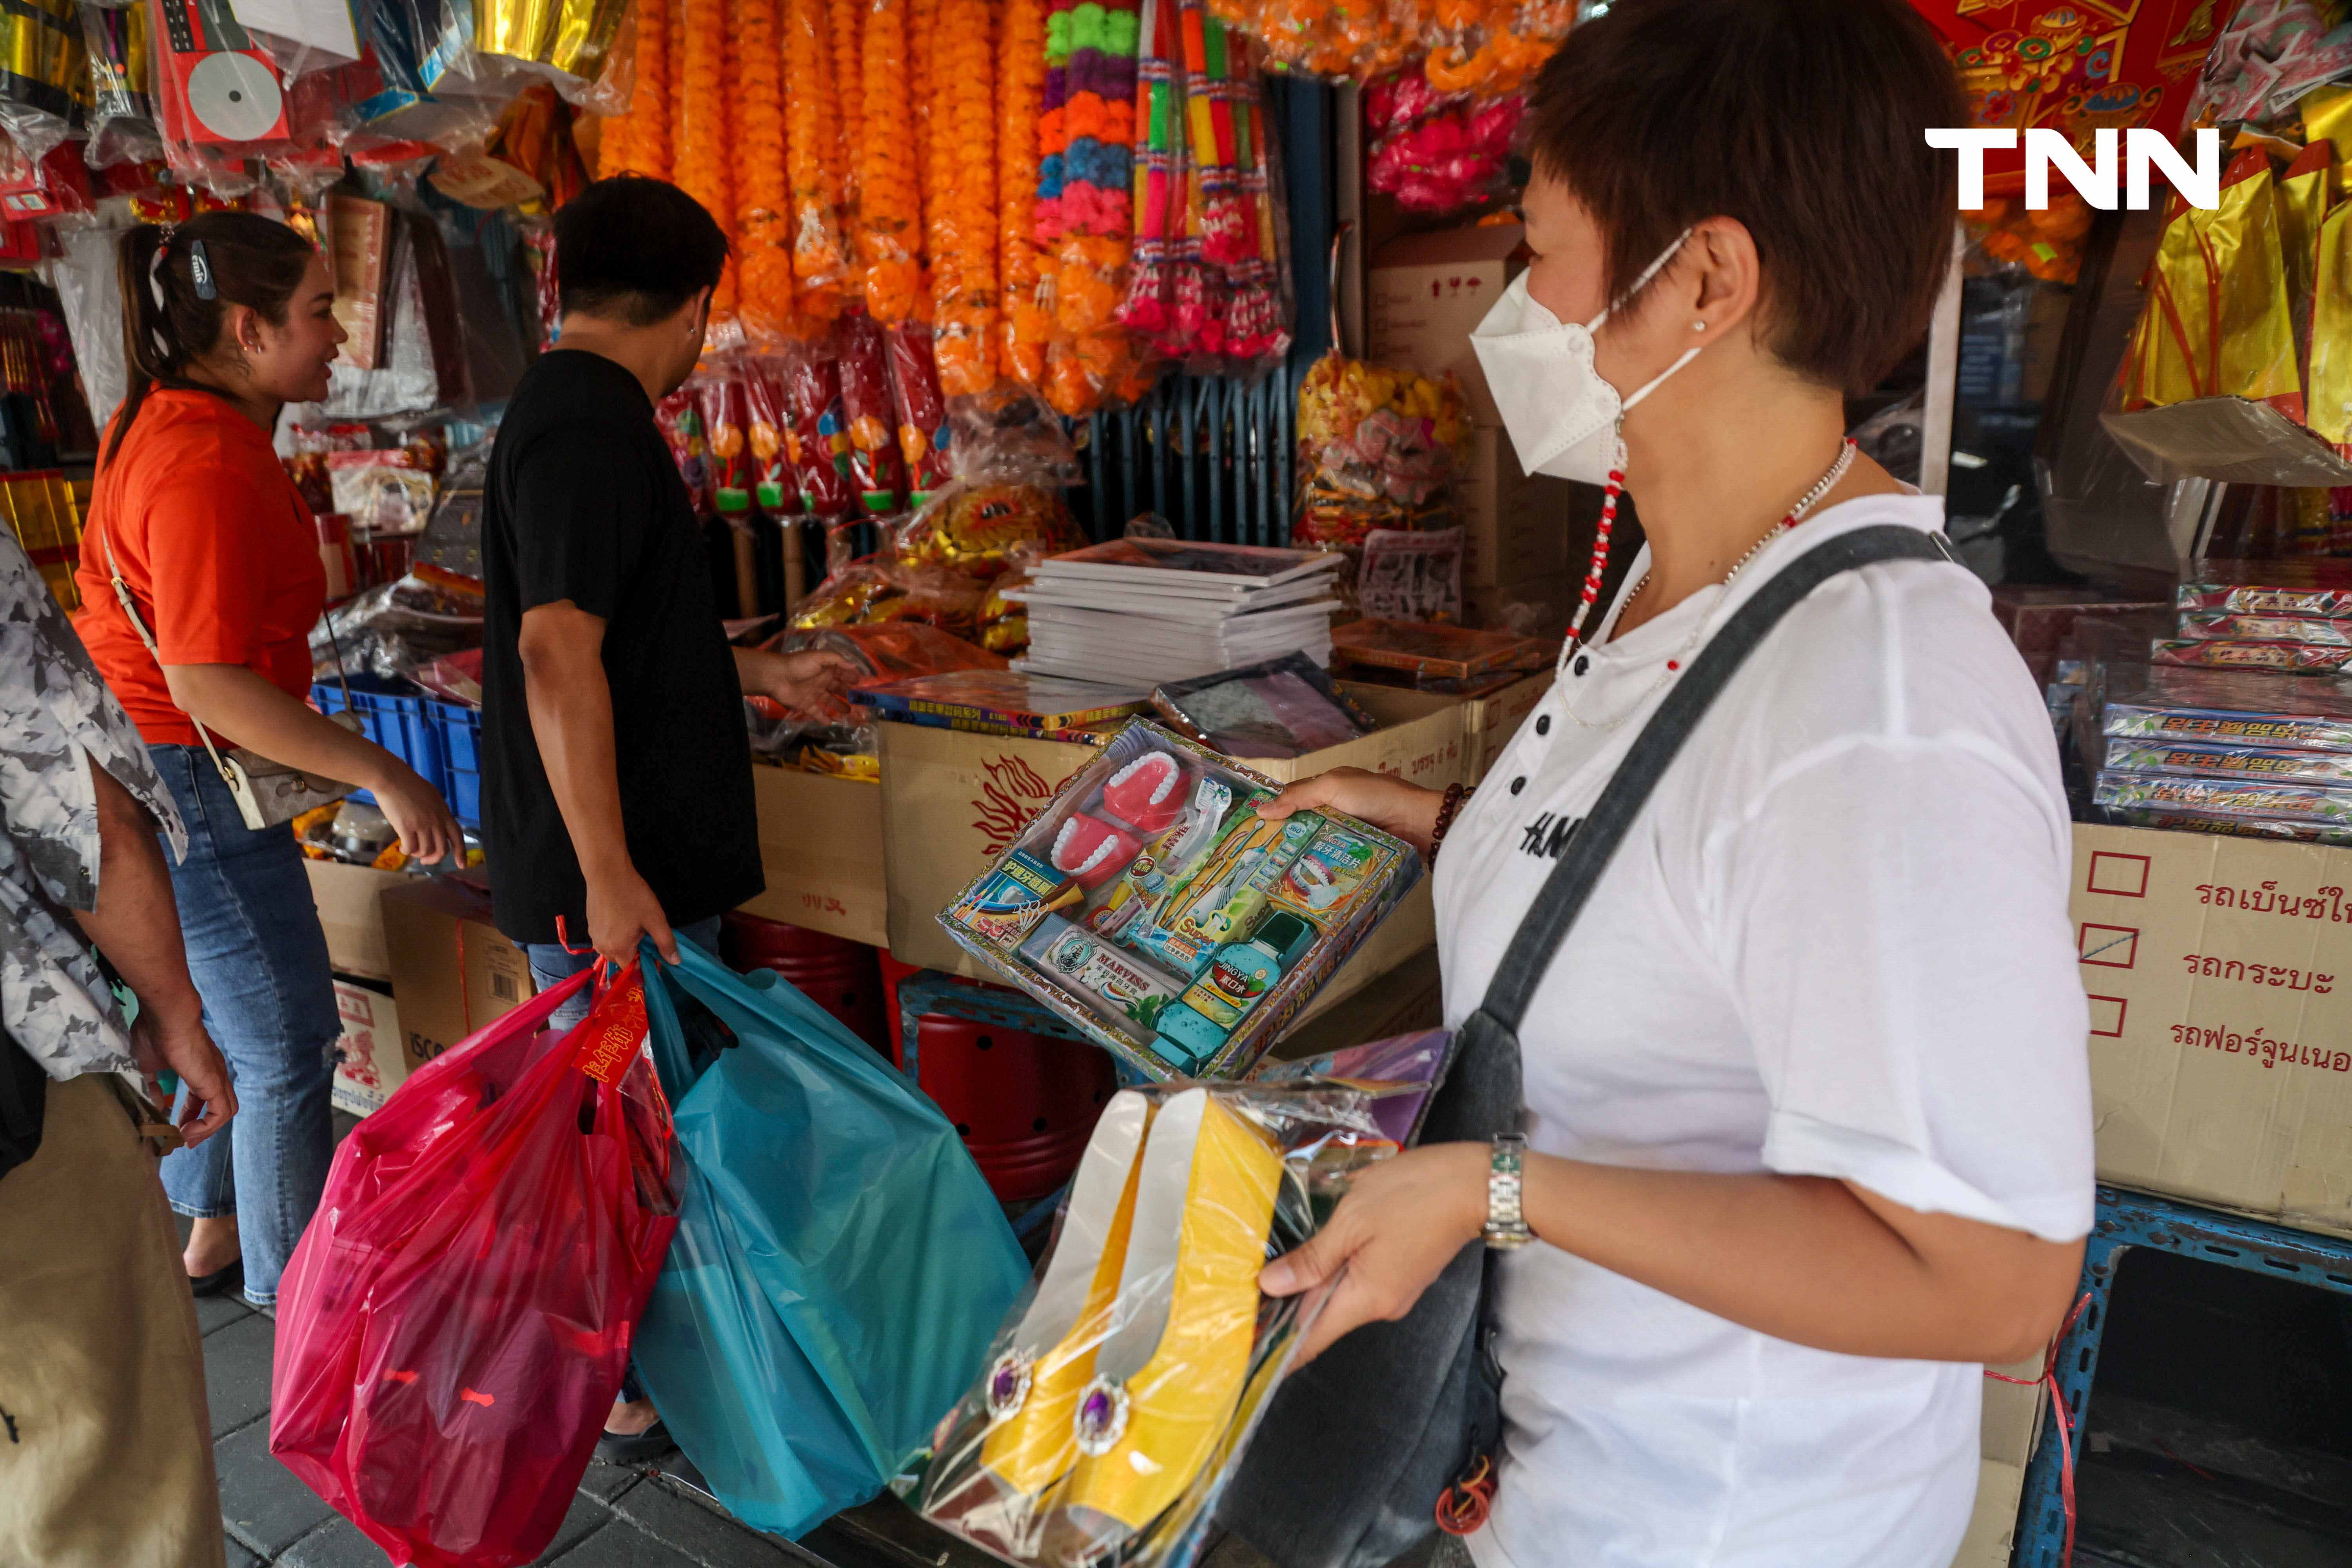
{"label": "plain brown cardboard box directly right of the man in black", "polygon": [[882,790],[866,778],[755,766],[760,870],[767,891],[743,905],[826,936],[889,940],[882,882]]}

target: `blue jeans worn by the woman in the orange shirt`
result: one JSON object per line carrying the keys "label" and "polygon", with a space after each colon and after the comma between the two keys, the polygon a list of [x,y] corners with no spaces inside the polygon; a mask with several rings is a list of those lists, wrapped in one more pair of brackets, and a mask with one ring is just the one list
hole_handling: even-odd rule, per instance
{"label": "blue jeans worn by the woman in the orange shirt", "polygon": [[238,1218],[245,1300],[268,1307],[334,1157],[327,1095],[343,1023],[327,933],[292,825],[252,832],[200,745],[151,745],[148,755],[188,825],[172,898],[205,1032],[238,1086],[228,1126],[165,1157],[162,1190],[183,1215]]}

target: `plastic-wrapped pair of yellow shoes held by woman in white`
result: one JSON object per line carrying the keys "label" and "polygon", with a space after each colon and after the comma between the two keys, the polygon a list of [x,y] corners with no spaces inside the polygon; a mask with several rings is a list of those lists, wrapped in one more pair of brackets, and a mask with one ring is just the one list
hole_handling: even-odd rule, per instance
{"label": "plastic-wrapped pair of yellow shoes held by woman in white", "polygon": [[922,1514],[1011,1563],[1195,1561],[1327,1300],[1265,1298],[1258,1269],[1392,1152],[1369,1095],[1329,1081],[1112,1095],[1054,1246],[908,1486]]}

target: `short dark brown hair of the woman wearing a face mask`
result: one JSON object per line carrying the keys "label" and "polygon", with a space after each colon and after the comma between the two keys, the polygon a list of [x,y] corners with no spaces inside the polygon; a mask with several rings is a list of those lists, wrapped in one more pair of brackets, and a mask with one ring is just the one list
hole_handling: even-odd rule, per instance
{"label": "short dark brown hair of the woman wearing a face mask", "polygon": [[1611,301],[1691,223],[1738,219],[1773,355],[1863,393],[1952,263],[1959,167],[1924,132],[1971,122],[1905,0],[1618,0],[1543,66],[1526,148],[1606,235]]}

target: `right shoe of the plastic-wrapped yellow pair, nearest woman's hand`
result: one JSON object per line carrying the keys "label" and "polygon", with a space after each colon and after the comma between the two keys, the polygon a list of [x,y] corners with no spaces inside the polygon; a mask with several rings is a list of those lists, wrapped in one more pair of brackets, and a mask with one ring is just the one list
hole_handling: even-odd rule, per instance
{"label": "right shoe of the plastic-wrapped yellow pair, nearest woman's hand", "polygon": [[1279,1182],[1265,1131],[1209,1091],[1160,1107],[1110,1335],[1073,1418],[1080,1460],[1049,1505],[1047,1561],[1117,1549],[1221,1448],[1249,1378]]}

